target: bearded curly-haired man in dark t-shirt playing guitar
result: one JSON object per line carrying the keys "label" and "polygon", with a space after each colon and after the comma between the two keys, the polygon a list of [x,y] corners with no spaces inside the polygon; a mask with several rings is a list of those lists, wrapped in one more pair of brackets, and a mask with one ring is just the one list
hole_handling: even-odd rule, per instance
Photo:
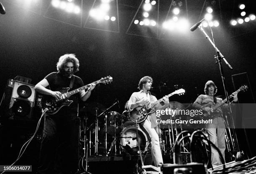
{"label": "bearded curly-haired man in dark t-shirt playing guitar", "polygon": [[[57,63],[58,72],[48,74],[35,86],[35,90],[44,95],[51,95],[56,100],[61,99],[59,90],[64,87],[77,89],[83,81],[74,75],[79,70],[79,60],[74,54],[65,54]],[[48,87],[50,89],[47,89]],[[53,115],[44,115],[44,136],[41,141],[38,174],[70,174],[77,171],[77,110],[78,100],[86,101],[95,84],[73,95],[71,105],[62,107]]]}

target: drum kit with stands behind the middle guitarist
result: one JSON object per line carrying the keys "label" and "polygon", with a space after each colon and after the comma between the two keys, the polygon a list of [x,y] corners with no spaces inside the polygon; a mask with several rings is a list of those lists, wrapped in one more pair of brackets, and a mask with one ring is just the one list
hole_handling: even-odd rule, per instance
{"label": "drum kit with stands behind the middle guitarist", "polygon": [[[136,123],[131,121],[129,112],[125,110],[122,114],[110,111],[117,102],[109,108],[95,109],[96,118],[90,126],[86,126],[84,132],[88,138],[89,156],[116,156],[137,155],[138,144],[141,151],[146,151],[150,143],[147,131],[138,124],[138,135]],[[183,108],[179,102],[170,102],[170,107]],[[98,114],[98,112],[102,112]],[[163,154],[171,154],[176,135],[182,131],[180,125],[171,125],[168,129],[160,129],[160,145]],[[188,152],[185,142],[182,142],[182,150]]]}

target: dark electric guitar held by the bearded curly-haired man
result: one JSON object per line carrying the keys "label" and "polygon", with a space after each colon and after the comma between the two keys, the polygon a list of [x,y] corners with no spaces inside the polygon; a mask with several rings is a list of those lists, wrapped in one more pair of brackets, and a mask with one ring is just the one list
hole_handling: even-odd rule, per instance
{"label": "dark electric guitar held by the bearded curly-haired man", "polygon": [[[113,81],[113,77],[107,76],[104,78],[101,78],[100,80],[97,80],[95,82],[92,82],[94,84],[99,84],[99,83],[110,83]],[[51,95],[44,95],[42,97],[41,100],[41,105],[42,108],[44,110],[46,110],[46,113],[48,113],[49,115],[53,115],[56,114],[61,107],[63,106],[69,106],[73,100],[68,100],[70,96],[76,94],[77,92],[80,92],[82,90],[86,90],[87,88],[89,88],[89,84],[83,86],[83,87],[79,87],[76,90],[72,90],[70,92],[69,91],[69,87],[66,88],[62,88],[59,92],[61,92],[61,99],[60,100],[56,100],[55,97],[52,97]]]}

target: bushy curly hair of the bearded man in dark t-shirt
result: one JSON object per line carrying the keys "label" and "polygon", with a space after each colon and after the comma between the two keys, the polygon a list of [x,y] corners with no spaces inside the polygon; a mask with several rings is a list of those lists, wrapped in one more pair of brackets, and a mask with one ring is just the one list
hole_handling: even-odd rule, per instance
{"label": "bushy curly hair of the bearded man in dark t-shirt", "polygon": [[72,62],[74,64],[74,73],[79,71],[79,60],[76,58],[75,54],[64,54],[59,58],[57,63],[57,70],[59,72],[64,72],[64,68],[68,62]]}

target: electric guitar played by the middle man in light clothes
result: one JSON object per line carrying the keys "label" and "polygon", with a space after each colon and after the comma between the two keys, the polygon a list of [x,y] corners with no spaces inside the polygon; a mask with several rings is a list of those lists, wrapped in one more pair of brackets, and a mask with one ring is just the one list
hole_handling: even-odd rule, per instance
{"label": "electric guitar played by the middle man in light clothes", "polygon": [[[176,90],[176,91],[172,92],[171,94],[169,94],[168,97],[171,97],[174,94],[183,95],[184,93],[185,93],[184,89],[179,89],[179,90]],[[164,101],[163,98],[161,98],[154,103],[148,103],[146,105],[138,106],[138,107],[134,108],[132,111],[130,111],[131,120],[134,123],[142,123],[143,121],[146,120],[146,118],[148,117],[149,114],[155,112],[153,107],[156,104],[163,102],[163,101]]]}

